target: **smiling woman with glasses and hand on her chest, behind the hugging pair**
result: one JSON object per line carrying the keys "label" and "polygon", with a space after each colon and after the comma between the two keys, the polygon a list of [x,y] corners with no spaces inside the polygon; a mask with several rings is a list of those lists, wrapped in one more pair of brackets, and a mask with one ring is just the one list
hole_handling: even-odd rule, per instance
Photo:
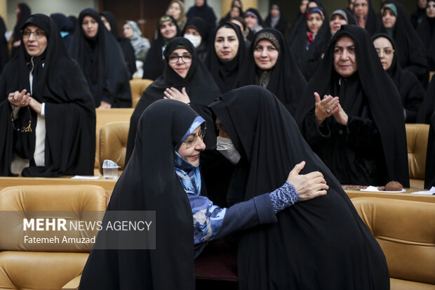
{"label": "smiling woman with glasses and hand on her chest, behind the hugging pair", "polygon": [[[150,84],[142,93],[130,120],[126,163],[130,159],[135,145],[136,128],[142,112],[156,100],[175,98],[196,110],[211,124],[213,121],[207,105],[220,95],[220,90],[210,73],[198,59],[193,44],[184,37],[169,41],[164,51],[165,69],[163,74]],[[206,145],[213,147],[216,143],[213,130],[206,137]]]}

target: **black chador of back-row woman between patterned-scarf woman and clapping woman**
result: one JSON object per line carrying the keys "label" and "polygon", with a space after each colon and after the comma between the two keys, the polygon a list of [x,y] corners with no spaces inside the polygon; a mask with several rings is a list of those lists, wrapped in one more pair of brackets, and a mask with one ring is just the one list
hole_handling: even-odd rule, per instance
{"label": "black chador of back-row woman between patterned-scarf woman and clapping woman", "polygon": [[[320,7],[311,8],[307,11],[307,16],[299,26],[290,46],[290,51],[293,53],[297,65],[307,81],[312,78],[319,67],[322,55],[325,53],[330,40],[329,20]],[[319,13],[323,16],[323,24],[319,28],[319,32],[316,33],[315,38],[311,41],[309,40],[309,35],[312,35],[312,32],[309,31],[307,24],[309,13]]]}

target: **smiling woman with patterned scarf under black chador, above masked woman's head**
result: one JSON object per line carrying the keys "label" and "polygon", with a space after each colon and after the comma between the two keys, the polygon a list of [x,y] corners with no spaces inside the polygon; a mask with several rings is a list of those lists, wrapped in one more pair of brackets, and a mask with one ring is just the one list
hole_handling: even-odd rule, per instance
{"label": "smiling woman with patterned scarf under black chador, above masked woman's head", "polygon": [[281,32],[265,28],[255,34],[243,72],[241,86],[267,88],[295,114],[307,83]]}

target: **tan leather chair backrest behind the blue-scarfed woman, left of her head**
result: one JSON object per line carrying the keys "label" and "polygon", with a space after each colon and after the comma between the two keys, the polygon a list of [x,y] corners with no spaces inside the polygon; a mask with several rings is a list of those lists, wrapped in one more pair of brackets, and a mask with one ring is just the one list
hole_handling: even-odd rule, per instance
{"label": "tan leather chair backrest behind the blue-scarfed woman, left of her head", "polygon": [[105,159],[112,160],[124,169],[126,160],[126,149],[128,129],[130,122],[116,121],[105,124],[100,128],[100,172],[102,173],[102,162]]}

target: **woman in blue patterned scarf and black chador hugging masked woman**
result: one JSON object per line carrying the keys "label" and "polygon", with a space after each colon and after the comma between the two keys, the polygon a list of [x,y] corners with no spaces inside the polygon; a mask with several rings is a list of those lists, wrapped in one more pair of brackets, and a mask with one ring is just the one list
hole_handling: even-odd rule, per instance
{"label": "woman in blue patterned scarf and black chador hugging masked woman", "polygon": [[208,242],[276,223],[276,214],[283,209],[326,195],[323,175],[316,171],[300,175],[302,163],[269,192],[229,208],[215,206],[203,196],[199,169],[200,152],[206,147],[205,125],[191,106],[177,100],[158,100],[145,110],[136,133],[138,143],[107,211],[155,211],[157,247],[93,249],[80,289],[195,289],[194,258]]}

